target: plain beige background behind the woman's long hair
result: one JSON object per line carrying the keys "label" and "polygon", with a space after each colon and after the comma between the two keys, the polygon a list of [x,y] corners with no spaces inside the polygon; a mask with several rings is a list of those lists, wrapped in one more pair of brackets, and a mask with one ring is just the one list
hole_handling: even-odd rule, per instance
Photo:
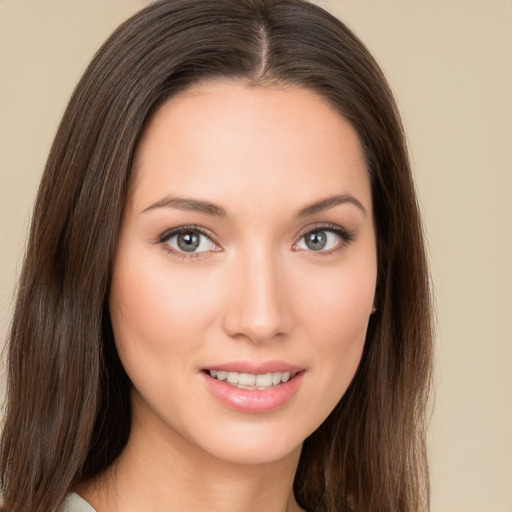
{"label": "plain beige background behind the woman's long hair", "polygon": [[[512,2],[325,0],[402,110],[438,316],[433,512],[512,512]],[[0,0],[0,341],[71,90],[142,0]],[[3,380],[3,379],[2,379]]]}

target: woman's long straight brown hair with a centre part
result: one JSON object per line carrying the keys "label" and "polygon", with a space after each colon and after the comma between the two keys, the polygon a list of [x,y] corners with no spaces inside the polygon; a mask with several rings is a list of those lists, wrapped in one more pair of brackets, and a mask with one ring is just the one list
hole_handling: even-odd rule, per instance
{"label": "woman's long straight brown hair with a centre part", "polygon": [[106,302],[134,149],[163,101],[215,78],[315,91],[357,131],[372,186],[377,311],[353,382],[304,443],[297,501],[310,511],[427,510],[430,295],[405,138],[364,45],[303,0],[158,1],[85,71],[41,181],[9,337],[5,510],[55,510],[125,446],[130,382]]}

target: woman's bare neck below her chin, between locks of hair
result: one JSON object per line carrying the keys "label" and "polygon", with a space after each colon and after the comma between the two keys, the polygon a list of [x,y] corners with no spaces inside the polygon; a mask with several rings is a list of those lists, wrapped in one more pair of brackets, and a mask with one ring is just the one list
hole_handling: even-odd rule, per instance
{"label": "woman's bare neck below her chin, between locks of hair", "polygon": [[297,512],[292,487],[300,448],[272,462],[234,463],[134,417],[116,463],[77,491],[98,512]]}

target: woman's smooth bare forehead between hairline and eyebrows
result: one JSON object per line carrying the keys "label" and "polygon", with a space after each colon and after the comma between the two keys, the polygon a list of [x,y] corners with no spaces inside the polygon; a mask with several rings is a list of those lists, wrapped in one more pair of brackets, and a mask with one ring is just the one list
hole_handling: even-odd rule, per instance
{"label": "woman's smooth bare forehead between hairline and eyebrows", "polygon": [[171,98],[138,144],[132,185],[138,207],[165,193],[219,202],[279,193],[284,204],[335,191],[357,193],[371,209],[356,132],[323,98],[293,86],[213,82]]}

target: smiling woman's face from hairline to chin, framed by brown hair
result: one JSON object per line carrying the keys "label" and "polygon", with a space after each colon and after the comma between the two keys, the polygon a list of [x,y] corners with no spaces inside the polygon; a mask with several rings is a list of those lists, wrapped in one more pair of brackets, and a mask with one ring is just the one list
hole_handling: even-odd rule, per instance
{"label": "smiling woman's face from hairline to chin, framed by brown hair", "polygon": [[358,138],[319,96],[169,100],[136,151],[110,296],[133,429],[233,462],[296,454],[357,369],[376,263]]}

